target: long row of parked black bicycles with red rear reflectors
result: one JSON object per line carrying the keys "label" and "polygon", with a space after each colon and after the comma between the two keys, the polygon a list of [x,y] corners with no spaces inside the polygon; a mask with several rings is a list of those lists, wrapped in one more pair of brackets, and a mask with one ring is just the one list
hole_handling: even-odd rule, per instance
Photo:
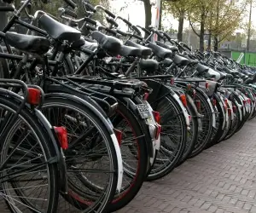
{"label": "long row of parked black bicycles with red rear reflectors", "polygon": [[58,17],[29,14],[31,0],[3,2],[12,15],[0,32],[0,179],[12,212],[120,210],[143,181],[256,116],[253,67],[86,0],[65,0]]}

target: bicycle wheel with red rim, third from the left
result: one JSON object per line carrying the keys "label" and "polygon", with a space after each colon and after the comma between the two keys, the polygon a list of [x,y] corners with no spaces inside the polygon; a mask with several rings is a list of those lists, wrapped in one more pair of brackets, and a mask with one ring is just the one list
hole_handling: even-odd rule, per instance
{"label": "bicycle wheel with red rim, third from the left", "polygon": [[108,212],[121,209],[137,195],[143,186],[148,166],[149,157],[147,152],[145,135],[141,124],[135,114],[129,108],[119,102],[117,113],[110,118],[113,127],[122,132],[120,144],[124,166],[124,179],[121,191],[116,193]]}

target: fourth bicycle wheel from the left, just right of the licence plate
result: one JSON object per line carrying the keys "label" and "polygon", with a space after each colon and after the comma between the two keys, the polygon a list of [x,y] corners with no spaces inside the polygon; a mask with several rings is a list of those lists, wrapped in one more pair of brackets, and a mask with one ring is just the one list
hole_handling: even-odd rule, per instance
{"label": "fourth bicycle wheel from the left, just right of the licence plate", "polygon": [[160,112],[162,129],[160,151],[151,166],[148,181],[166,176],[177,166],[187,140],[187,125],[182,109],[171,95],[163,97],[153,108]]}

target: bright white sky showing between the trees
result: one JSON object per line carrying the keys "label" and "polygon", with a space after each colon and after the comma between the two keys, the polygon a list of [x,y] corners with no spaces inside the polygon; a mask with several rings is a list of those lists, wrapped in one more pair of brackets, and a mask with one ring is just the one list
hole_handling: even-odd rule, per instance
{"label": "bright white sky showing between the trees", "polygon": [[[126,3],[125,3],[126,2]],[[155,0],[152,0],[152,2],[155,2]],[[122,9],[128,5],[127,8]],[[145,15],[144,15],[144,6],[143,2],[141,1],[134,1],[134,0],[111,0],[111,7],[115,11],[116,14],[119,14],[120,16],[128,19],[130,18],[130,22],[134,25],[144,26],[145,21]],[[120,9],[122,9],[120,11]],[[245,17],[244,21],[248,21],[248,12],[249,9],[247,9],[247,17]],[[154,25],[154,20],[156,17],[156,9],[153,7],[152,9],[152,24]],[[254,27],[256,27],[256,5],[253,6],[252,11],[252,24]],[[168,16],[165,20],[163,20],[163,25],[167,28],[173,28],[177,30],[178,21],[175,20],[172,15]],[[123,27],[123,26],[121,26]],[[185,21],[184,28],[189,27],[189,22]],[[241,32],[241,30],[237,30],[237,32]]]}

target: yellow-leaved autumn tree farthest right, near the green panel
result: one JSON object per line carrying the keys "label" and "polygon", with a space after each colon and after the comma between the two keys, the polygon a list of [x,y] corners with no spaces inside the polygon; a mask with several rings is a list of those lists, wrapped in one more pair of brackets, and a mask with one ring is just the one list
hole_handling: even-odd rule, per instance
{"label": "yellow-leaved autumn tree farthest right, near the green panel", "polygon": [[[193,7],[188,11],[189,24],[195,34],[200,37],[200,49],[204,50],[204,35],[209,33],[214,37],[214,49],[218,50],[218,43],[230,36],[240,22],[248,0],[193,0]],[[195,31],[195,26],[200,26],[200,31]]]}

